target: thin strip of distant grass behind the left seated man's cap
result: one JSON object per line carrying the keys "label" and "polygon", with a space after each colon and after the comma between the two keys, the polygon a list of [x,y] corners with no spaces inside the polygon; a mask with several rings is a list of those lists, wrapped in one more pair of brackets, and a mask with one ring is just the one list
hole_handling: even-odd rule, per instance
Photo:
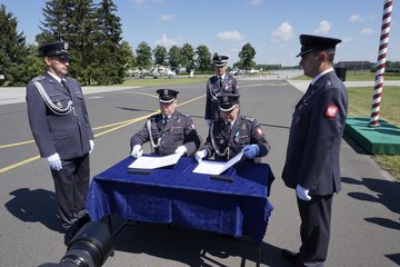
{"label": "thin strip of distant grass behind the left seated man's cap", "polygon": [[140,87],[147,87],[147,86],[171,86],[171,85],[188,85],[188,83],[196,83],[196,82],[204,82],[209,77],[196,77],[196,78],[159,78],[159,79],[127,79],[121,85],[114,85],[116,87],[121,86],[140,86]]}

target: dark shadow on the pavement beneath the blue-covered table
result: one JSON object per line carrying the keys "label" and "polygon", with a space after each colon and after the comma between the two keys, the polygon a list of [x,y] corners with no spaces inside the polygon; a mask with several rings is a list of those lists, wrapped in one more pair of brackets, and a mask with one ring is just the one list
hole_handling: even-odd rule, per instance
{"label": "dark shadow on the pavement beneath the blue-covered table", "polygon": [[240,264],[234,266],[241,267],[290,266],[281,258],[281,249],[270,244],[262,243],[260,254],[260,247],[251,240],[179,226],[143,222],[127,225],[116,236],[114,245],[114,257],[118,257],[118,250],[130,253],[133,254],[132,261],[136,254],[147,254],[192,267],[232,266],[232,260],[239,260]]}

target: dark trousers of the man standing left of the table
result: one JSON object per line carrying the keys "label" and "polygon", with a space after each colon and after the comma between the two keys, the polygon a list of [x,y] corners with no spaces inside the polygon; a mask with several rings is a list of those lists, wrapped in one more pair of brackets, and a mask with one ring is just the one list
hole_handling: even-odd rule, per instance
{"label": "dark trousers of the man standing left of the table", "polygon": [[89,154],[72,159],[62,159],[62,169],[51,169],[54,180],[58,212],[62,227],[68,229],[86,215],[86,198],[89,191]]}

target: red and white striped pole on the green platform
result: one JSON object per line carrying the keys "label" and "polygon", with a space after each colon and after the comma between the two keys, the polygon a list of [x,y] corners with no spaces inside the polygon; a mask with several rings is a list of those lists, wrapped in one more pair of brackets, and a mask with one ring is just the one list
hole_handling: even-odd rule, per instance
{"label": "red and white striped pole on the green platform", "polygon": [[392,6],[393,6],[393,0],[384,0],[381,37],[379,42],[378,62],[377,62],[376,80],[373,88],[373,98],[372,98],[372,110],[371,110],[371,118],[369,123],[370,127],[379,126],[378,123],[379,110],[380,110],[380,102],[382,97],[382,87],[383,87],[383,78],[384,78],[386,58],[388,52],[388,43],[389,43]]}

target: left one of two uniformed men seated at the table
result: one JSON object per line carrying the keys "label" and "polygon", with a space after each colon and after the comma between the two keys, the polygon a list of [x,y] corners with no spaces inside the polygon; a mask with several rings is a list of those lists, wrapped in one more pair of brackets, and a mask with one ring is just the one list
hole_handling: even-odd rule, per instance
{"label": "left one of two uniformed men seated at the table", "polygon": [[176,110],[179,92],[159,89],[157,93],[161,113],[151,116],[143,128],[131,138],[131,156],[140,157],[143,142],[150,141],[151,150],[158,155],[181,154],[193,157],[200,139],[192,118]]}

